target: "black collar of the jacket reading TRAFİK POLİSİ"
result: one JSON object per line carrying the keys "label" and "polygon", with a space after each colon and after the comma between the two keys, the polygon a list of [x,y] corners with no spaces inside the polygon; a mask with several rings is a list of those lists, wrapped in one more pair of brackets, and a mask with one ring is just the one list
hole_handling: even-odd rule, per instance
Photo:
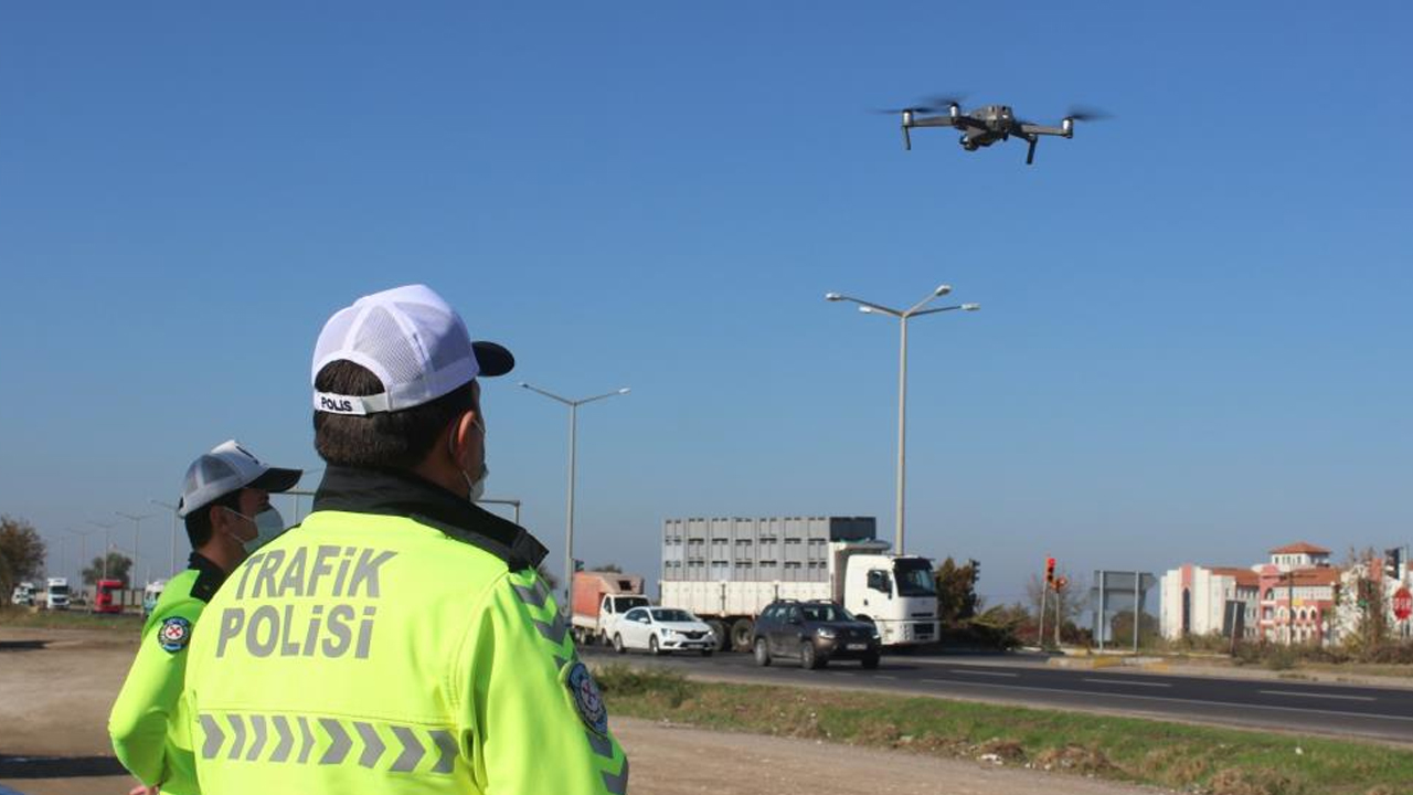
{"label": "black collar of the jacket reading TRAF\u0130K POL\u0130S\u0130", "polygon": [[393,470],[331,465],[314,494],[314,509],[413,519],[495,555],[512,570],[534,569],[550,552],[520,525],[417,475]]}

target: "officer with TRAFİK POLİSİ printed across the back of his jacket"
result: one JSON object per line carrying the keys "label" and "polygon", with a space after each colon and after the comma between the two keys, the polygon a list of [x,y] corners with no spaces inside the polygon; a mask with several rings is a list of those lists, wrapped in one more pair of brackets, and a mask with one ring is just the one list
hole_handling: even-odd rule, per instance
{"label": "officer with TRAF\u0130K POL\u0130S\u0130 printed across the back of his jacket", "polygon": [[208,795],[627,789],[598,686],[536,574],[545,547],[473,504],[478,376],[513,366],[420,284],[325,324],[314,512],[232,574],[189,652]]}

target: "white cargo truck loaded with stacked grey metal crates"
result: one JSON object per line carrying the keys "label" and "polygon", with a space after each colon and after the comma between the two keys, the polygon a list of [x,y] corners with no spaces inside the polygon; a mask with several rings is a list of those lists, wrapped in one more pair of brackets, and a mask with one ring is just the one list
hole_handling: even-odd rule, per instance
{"label": "white cargo truck loaded with stacked grey metal crates", "polygon": [[780,598],[836,601],[886,646],[937,639],[933,566],[890,555],[872,516],[691,518],[663,522],[663,607],[699,615],[721,648],[750,649]]}

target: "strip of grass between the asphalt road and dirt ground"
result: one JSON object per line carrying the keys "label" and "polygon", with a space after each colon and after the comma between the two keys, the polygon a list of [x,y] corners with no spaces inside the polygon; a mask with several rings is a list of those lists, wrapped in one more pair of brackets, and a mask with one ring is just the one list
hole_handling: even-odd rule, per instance
{"label": "strip of grass between the asphalt road and dirt ground", "polygon": [[613,714],[901,748],[1211,795],[1410,795],[1413,753],[1156,720],[851,690],[596,672]]}

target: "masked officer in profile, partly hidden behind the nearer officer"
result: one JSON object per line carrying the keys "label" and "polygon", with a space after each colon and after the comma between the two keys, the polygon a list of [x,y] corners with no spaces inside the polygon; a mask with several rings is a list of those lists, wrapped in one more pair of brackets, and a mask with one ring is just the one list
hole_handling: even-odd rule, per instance
{"label": "masked officer in profile, partly hidden behind the nearer officer", "polygon": [[304,472],[268,467],[237,441],[223,441],[187,468],[177,513],[192,553],[143,625],[137,659],[113,704],[107,733],[119,761],[141,787],[195,795],[191,744],[178,717],[187,644],[202,610],[236,566],[284,529],[270,492],[288,491]]}

